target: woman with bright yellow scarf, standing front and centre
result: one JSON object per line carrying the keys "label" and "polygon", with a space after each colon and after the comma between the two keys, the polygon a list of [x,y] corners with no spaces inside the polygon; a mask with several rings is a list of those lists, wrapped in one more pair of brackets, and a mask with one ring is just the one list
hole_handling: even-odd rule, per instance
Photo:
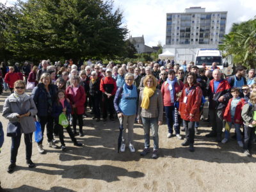
{"label": "woman with bright yellow scarf, standing front and centre", "polygon": [[138,123],[142,121],[144,128],[145,148],[140,153],[145,156],[150,152],[150,128],[154,140],[153,159],[157,159],[157,150],[159,148],[158,127],[163,122],[163,97],[159,89],[156,89],[156,77],[148,75],[145,77],[144,88],[140,92],[140,101],[138,106]]}

